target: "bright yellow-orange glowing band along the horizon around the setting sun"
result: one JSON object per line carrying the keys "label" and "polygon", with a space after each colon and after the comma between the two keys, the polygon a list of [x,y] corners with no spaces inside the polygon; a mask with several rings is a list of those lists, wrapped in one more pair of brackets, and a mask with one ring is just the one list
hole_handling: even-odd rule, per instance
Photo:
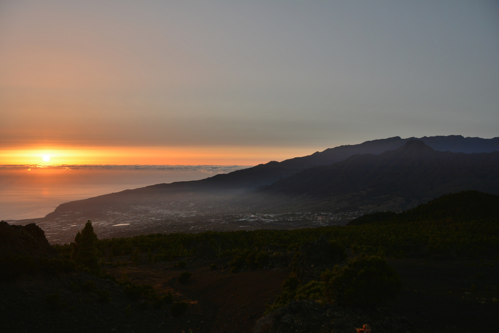
{"label": "bright yellow-orange glowing band along the horizon around the setting sun", "polygon": [[0,164],[257,165],[305,156],[305,147],[50,147],[0,149]]}

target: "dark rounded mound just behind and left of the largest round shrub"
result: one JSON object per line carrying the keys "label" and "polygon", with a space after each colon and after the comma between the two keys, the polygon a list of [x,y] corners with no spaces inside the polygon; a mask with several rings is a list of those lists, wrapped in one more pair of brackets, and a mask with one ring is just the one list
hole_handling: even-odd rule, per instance
{"label": "dark rounded mound just behind and left of the largest round shrub", "polygon": [[331,269],[341,261],[331,252],[331,246],[324,236],[300,246],[296,260],[296,277],[302,284],[310,280],[319,281],[320,273]]}

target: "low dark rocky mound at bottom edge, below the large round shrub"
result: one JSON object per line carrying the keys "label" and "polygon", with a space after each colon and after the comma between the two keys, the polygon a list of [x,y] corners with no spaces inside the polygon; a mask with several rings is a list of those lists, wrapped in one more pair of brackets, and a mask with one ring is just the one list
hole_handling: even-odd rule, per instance
{"label": "low dark rocky mound at bottom edge, below the large round shrub", "polygon": [[254,333],[352,333],[368,324],[373,332],[415,332],[414,325],[386,309],[364,312],[315,301],[293,301],[260,318]]}

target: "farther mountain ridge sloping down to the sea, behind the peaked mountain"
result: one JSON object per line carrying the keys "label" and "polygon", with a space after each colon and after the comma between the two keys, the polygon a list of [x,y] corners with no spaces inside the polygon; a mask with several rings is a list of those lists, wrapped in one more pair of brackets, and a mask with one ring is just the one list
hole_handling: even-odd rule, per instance
{"label": "farther mountain ridge sloping down to the sea, behind the peaked mountain", "polygon": [[[144,197],[180,199],[182,196],[189,195],[190,199],[200,199],[213,195],[242,194],[261,186],[273,184],[279,179],[289,177],[311,167],[328,166],[335,162],[343,161],[352,155],[369,153],[375,156],[385,151],[394,150],[403,146],[408,140],[396,136],[387,139],[366,141],[356,145],[343,145],[329,148],[322,152],[315,152],[308,156],[295,157],[282,162],[270,161],[252,168],[237,170],[228,174],[220,174],[202,180],[156,184],[134,190],[125,190],[89,199],[72,201],[59,205],[47,217],[58,216],[59,212],[62,211],[76,211],[81,209],[87,211],[94,209],[102,210],[103,207],[115,205],[124,208],[127,204],[133,204],[133,202]],[[427,142],[430,147],[433,146],[435,149],[443,151],[499,151],[499,137],[482,139],[451,135],[423,137],[421,140]],[[416,157],[413,156],[412,158]],[[310,170],[307,171],[307,173],[310,172]],[[352,189],[353,187],[349,188]],[[350,190],[346,190],[346,192],[348,191]],[[305,192],[311,194],[314,191],[308,189]],[[288,191],[287,193],[290,192]],[[88,216],[91,217],[92,214],[89,213]]]}

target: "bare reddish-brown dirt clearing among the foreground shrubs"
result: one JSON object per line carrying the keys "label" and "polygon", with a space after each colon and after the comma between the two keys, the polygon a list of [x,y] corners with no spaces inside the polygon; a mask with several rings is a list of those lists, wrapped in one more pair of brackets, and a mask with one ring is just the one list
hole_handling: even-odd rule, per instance
{"label": "bare reddish-brown dirt clearing among the foreground shrubs", "polygon": [[[222,267],[231,259],[188,261],[188,266],[183,269],[173,268],[175,262],[170,262],[114,268],[109,272],[119,279],[126,271],[130,281],[151,284],[161,293],[172,292],[176,299],[189,302],[187,316],[192,320],[185,330],[249,333],[255,320],[263,316],[266,303],[278,295],[290,270],[280,268],[230,274]],[[218,269],[210,269],[211,264],[216,264]],[[178,277],[185,271],[192,273],[191,279],[186,284],[178,283]],[[169,325],[181,329],[183,322],[184,318],[170,319]]]}

